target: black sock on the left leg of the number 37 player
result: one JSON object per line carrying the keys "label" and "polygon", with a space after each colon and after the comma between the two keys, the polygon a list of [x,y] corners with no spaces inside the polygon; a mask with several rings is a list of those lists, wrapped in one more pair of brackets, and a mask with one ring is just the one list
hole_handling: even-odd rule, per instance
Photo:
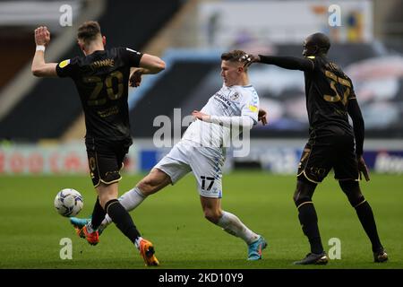
{"label": "black sock on the left leg of the number 37 player", "polygon": [[298,218],[304,235],[309,239],[311,252],[320,254],[323,252],[321,235],[318,228],[318,216],[316,215],[313,202],[305,201],[298,206]]}

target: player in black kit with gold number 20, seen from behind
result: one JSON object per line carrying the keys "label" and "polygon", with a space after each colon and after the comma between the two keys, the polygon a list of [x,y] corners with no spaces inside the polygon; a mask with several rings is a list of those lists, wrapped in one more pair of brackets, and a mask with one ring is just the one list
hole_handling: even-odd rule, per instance
{"label": "player in black kit with gold number 20, seen from behind", "polygon": [[[132,145],[129,126],[128,86],[141,82],[141,74],[157,74],[165,68],[159,57],[141,54],[130,48],[104,49],[98,22],[84,22],[78,29],[78,44],[84,57],[60,63],[46,63],[44,52],[50,41],[47,27],[35,30],[36,53],[32,73],[39,77],[59,76],[73,79],[85,115],[85,144],[90,177],[97,190],[97,201],[89,225],[77,229],[91,245],[99,242],[99,224],[106,213],[139,249],[146,265],[159,265],[152,243],[142,239],[129,213],[117,200],[118,181],[122,178],[124,155]],[[137,69],[130,75],[131,67]]]}

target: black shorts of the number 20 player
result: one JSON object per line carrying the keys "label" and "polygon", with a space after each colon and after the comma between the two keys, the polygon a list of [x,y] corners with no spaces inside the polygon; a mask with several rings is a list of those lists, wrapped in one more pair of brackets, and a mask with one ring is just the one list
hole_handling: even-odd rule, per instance
{"label": "black shorts of the number 20 player", "polygon": [[119,172],[124,166],[124,156],[132,145],[131,138],[105,141],[87,137],[85,145],[94,187],[98,187],[101,182],[109,185],[122,178]]}

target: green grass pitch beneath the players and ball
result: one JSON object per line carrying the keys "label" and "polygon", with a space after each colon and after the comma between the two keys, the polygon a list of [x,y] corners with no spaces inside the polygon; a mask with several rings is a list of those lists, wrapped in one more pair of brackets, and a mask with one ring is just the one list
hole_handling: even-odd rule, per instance
{"label": "green grass pitch beneath the players and ball", "polygon": [[[124,175],[119,194],[133,187],[141,176]],[[207,222],[201,212],[195,180],[188,175],[174,187],[150,196],[131,214],[144,238],[156,248],[167,269],[196,268],[403,268],[403,177],[372,175],[363,182],[365,198],[390,255],[390,262],[374,264],[354,209],[328,177],[313,201],[325,249],[328,241],[341,242],[341,259],[326,266],[295,266],[292,262],[308,252],[292,196],[293,176],[261,171],[237,171],[224,175],[224,210],[235,213],[269,242],[263,259],[246,261],[246,245]],[[132,243],[110,225],[96,247],[79,239],[68,220],[56,213],[53,200],[58,190],[73,187],[84,196],[80,215],[89,215],[95,192],[89,177],[0,177],[0,268],[145,268]],[[59,257],[60,239],[73,241],[73,259]]]}

